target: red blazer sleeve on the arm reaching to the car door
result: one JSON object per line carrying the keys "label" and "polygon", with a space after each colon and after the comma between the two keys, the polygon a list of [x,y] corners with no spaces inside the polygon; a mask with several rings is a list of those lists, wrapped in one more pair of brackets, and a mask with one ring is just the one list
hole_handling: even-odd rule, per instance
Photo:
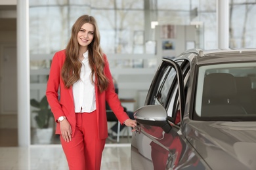
{"label": "red blazer sleeve on the arm reaching to the car door", "polygon": [[129,119],[129,116],[124,111],[123,107],[121,106],[121,102],[119,101],[118,95],[115,92],[114,83],[112,80],[112,75],[110,73],[109,63],[108,59],[106,59],[106,56],[104,55],[105,59],[105,75],[108,77],[109,83],[108,88],[106,90],[106,101],[108,102],[108,105],[116,115],[117,119],[121,124],[125,122],[125,120]]}

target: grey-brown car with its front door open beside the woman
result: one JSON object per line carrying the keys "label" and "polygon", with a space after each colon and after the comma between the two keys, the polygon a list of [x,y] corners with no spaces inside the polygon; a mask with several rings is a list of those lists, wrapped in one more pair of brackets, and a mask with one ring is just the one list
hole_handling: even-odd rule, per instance
{"label": "grey-brown car with its front door open beside the woman", "polygon": [[135,110],[135,169],[256,169],[256,49],[163,58]]}

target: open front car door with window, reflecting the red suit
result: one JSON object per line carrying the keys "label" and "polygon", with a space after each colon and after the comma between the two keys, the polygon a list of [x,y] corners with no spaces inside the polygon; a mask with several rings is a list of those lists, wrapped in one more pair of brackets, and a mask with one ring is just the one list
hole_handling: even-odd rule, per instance
{"label": "open front car door with window, reflecting the red suit", "polygon": [[[182,121],[179,115],[184,110],[184,82],[180,65],[182,61],[176,63],[163,59],[148,91],[146,107],[138,111],[138,115],[144,112],[145,116],[138,117],[135,112],[138,126],[132,140],[132,169],[166,169],[179,162],[177,160],[183,148],[178,134]],[[163,116],[165,114],[165,120],[158,120],[158,109]]]}

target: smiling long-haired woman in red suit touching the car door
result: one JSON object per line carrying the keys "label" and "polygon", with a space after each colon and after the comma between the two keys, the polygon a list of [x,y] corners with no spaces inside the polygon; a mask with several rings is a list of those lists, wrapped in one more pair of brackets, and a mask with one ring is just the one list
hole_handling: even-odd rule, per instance
{"label": "smiling long-haired woman in red suit touching the car door", "polygon": [[80,16],[66,49],[54,54],[46,95],[70,169],[100,169],[108,137],[106,101],[121,124],[136,126],[115,93],[93,16]]}

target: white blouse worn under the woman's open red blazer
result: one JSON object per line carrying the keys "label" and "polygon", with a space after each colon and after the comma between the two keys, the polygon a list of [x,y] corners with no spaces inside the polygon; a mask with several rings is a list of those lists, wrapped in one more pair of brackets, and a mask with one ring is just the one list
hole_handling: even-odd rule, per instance
{"label": "white blouse worn under the woman's open red blazer", "polygon": [[73,84],[75,112],[93,112],[96,110],[96,97],[95,85],[91,82],[88,51],[83,54],[83,57],[80,79]]}

